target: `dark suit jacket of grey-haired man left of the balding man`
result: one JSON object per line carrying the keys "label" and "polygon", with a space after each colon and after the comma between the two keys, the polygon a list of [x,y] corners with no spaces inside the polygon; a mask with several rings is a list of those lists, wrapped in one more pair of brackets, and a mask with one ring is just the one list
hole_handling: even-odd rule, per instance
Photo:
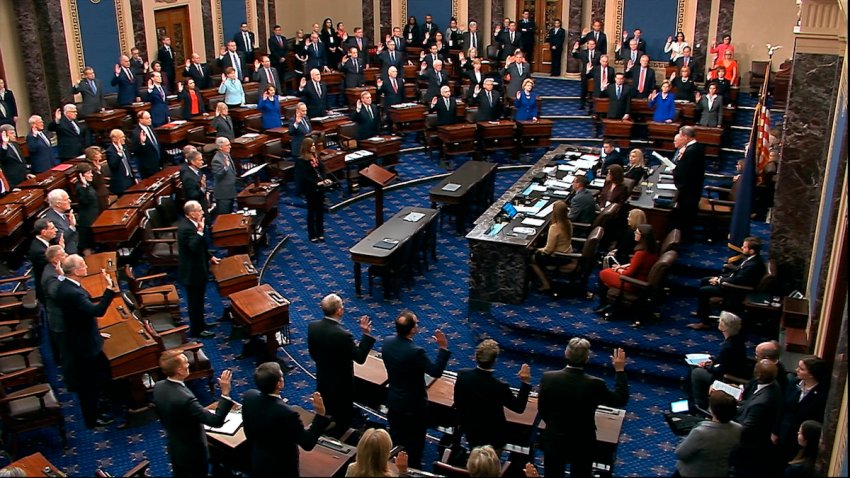
{"label": "dark suit jacket of grey-haired man left of the balding man", "polygon": [[[309,164],[305,160],[299,162]],[[313,184],[316,182],[313,180]],[[329,318],[313,320],[307,326],[307,349],[310,358],[316,362],[316,389],[322,394],[331,415],[351,414],[354,362],[366,362],[366,356],[374,345],[375,338],[369,335],[361,336],[358,345],[351,332]]]}

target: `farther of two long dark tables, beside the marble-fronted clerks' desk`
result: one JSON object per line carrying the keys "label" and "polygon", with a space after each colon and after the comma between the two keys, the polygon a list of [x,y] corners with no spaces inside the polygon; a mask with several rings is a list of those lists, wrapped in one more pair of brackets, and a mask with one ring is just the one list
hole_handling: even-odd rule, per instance
{"label": "farther of two long dark tables, beside the marble-fronted clerks' desk", "polygon": [[[462,234],[466,228],[466,212],[471,207],[486,208],[493,202],[493,183],[496,179],[496,164],[484,161],[467,161],[455,172],[431,188],[431,208],[437,203],[457,207],[456,229]],[[450,191],[447,185],[457,186]],[[453,189],[453,188],[450,188]]]}

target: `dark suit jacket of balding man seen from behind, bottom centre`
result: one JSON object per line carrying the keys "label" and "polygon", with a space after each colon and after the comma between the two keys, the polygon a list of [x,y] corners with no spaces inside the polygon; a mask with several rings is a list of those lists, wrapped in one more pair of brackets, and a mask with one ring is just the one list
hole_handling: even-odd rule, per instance
{"label": "dark suit jacket of balding man seen from behind, bottom centre", "polygon": [[387,408],[411,415],[424,414],[428,394],[422,377],[443,375],[450,355],[448,350],[440,349],[432,362],[425,349],[412,340],[397,335],[385,338],[382,356],[389,383]]}

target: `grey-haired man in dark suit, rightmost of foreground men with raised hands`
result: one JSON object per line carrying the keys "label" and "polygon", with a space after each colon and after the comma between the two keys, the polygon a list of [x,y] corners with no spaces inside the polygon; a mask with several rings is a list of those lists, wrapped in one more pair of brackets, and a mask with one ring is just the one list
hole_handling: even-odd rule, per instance
{"label": "grey-haired man in dark suit, rightmost of foreground men with raised hands", "polygon": [[614,391],[605,381],[585,374],[590,356],[590,342],[570,339],[564,353],[567,366],[544,372],[540,381],[538,410],[546,422],[543,459],[547,477],[564,476],[564,465],[570,464],[573,478],[590,477],[596,448],[596,407],[624,407],[629,401],[626,379],[626,353],[614,349]]}

